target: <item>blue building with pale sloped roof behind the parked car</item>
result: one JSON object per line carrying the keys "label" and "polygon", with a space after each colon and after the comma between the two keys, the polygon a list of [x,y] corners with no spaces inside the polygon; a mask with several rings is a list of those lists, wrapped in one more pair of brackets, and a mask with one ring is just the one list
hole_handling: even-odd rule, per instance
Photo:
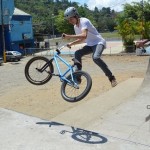
{"label": "blue building with pale sloped roof behind the parked car", "polygon": [[32,16],[15,8],[9,25],[8,50],[17,50],[22,54],[24,49],[34,46]]}

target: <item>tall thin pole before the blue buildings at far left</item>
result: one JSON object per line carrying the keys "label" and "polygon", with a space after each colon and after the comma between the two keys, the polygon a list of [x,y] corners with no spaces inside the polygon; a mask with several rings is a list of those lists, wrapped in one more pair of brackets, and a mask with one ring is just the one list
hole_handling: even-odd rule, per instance
{"label": "tall thin pole before the blue buildings at far left", "polygon": [[3,59],[6,63],[6,51],[5,51],[5,29],[4,29],[4,19],[3,19],[3,0],[1,0],[1,23],[2,23],[2,45],[3,45]]}

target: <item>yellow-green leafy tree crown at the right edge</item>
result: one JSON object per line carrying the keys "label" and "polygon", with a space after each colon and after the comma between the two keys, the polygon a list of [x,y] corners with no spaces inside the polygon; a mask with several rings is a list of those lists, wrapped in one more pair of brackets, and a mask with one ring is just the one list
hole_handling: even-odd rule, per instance
{"label": "yellow-green leafy tree crown at the right edge", "polygon": [[150,38],[150,0],[143,3],[124,5],[124,12],[117,18],[119,33],[124,37],[140,34],[141,38]]}

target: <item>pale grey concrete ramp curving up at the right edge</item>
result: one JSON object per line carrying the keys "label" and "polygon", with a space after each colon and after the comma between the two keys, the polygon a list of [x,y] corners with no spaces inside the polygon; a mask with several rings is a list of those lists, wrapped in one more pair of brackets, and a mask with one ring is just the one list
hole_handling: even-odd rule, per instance
{"label": "pale grey concrete ramp curving up at the right edge", "polygon": [[[141,87],[134,97],[107,112],[103,119],[95,120],[87,128],[104,135],[147,146],[150,149],[150,60]],[[120,144],[119,144],[120,145]],[[121,145],[120,145],[121,146]],[[142,148],[138,147],[138,150]]]}

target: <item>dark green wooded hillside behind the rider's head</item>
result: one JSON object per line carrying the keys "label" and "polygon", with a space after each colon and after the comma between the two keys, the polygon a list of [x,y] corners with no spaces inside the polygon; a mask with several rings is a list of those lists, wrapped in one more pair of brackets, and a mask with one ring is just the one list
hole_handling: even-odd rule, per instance
{"label": "dark green wooded hillside behind the rider's head", "polygon": [[32,15],[34,32],[42,34],[52,34],[53,27],[55,34],[72,33],[73,27],[68,26],[63,17],[70,6],[76,7],[81,17],[90,19],[99,32],[113,31],[116,26],[117,13],[110,8],[90,10],[87,4],[81,6],[68,0],[15,0],[15,7]]}

